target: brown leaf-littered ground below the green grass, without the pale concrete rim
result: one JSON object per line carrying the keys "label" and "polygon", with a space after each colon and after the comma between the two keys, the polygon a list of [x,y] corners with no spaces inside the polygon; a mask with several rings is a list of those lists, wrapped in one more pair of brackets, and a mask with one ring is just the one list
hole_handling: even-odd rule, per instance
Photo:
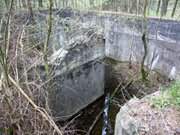
{"label": "brown leaf-littered ground below the green grass, without the pale concrete rim", "polygon": [[[159,91],[150,97],[157,95]],[[128,115],[141,124],[139,135],[180,135],[180,110],[177,107],[160,109],[154,107],[148,98],[137,100],[128,107]]]}

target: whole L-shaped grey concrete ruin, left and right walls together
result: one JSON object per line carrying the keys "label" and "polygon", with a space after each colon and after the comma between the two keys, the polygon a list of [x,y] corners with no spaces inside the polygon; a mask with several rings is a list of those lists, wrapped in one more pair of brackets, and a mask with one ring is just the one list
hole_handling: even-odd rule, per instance
{"label": "whole L-shaped grey concrete ruin, left and right walls together", "polygon": [[[105,67],[99,60],[140,63],[144,54],[143,19],[111,13],[60,10],[49,58],[56,68],[50,107],[68,118],[104,94]],[[180,22],[148,18],[145,64],[172,79],[180,77]]]}

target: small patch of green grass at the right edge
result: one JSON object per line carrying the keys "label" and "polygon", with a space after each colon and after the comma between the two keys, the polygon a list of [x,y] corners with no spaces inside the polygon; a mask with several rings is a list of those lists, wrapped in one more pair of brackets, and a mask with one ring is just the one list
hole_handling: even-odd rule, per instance
{"label": "small patch of green grass at the right edge", "polygon": [[168,88],[162,88],[160,95],[152,98],[152,104],[157,108],[180,107],[180,81],[173,82]]}

